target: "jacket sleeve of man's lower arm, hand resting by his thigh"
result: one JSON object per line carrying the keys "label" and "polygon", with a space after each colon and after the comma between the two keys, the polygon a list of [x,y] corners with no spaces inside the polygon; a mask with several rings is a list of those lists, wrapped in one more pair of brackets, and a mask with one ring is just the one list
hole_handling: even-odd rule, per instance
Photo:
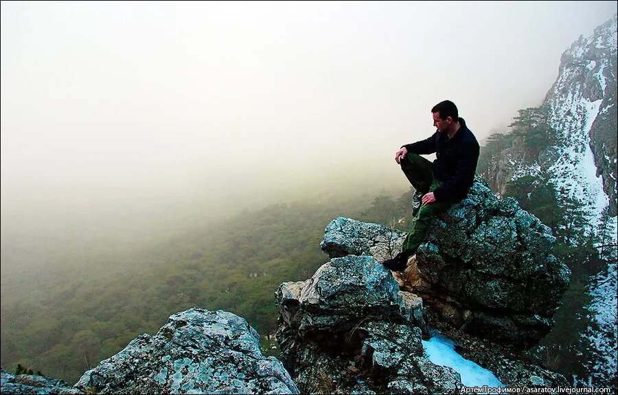
{"label": "jacket sleeve of man's lower arm, hand resting by his thigh", "polygon": [[464,156],[457,161],[457,170],[455,170],[453,177],[450,177],[433,191],[436,201],[453,201],[463,198],[474,182],[474,172],[477,170],[477,161],[479,161],[479,144],[468,142],[461,147],[461,150]]}

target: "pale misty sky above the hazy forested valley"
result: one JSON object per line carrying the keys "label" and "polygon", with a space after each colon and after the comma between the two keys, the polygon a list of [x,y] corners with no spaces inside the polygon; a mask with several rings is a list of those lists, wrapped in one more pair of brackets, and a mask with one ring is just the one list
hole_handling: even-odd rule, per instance
{"label": "pale misty sky above the hazy forested valley", "polygon": [[542,102],[562,52],[615,12],[615,1],[3,1],[3,215],[80,196],[292,188],[355,168],[400,177],[394,153],[433,133],[434,104],[453,100],[479,141],[503,130]]}

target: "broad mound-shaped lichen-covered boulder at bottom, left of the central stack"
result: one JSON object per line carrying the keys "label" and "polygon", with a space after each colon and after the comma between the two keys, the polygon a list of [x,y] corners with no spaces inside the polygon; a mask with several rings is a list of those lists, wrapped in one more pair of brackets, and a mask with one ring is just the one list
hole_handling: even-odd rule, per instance
{"label": "broad mound-shaped lichen-covered boulder at bottom, left of the central stack", "polygon": [[298,394],[282,363],[262,355],[259,340],[242,317],[191,308],[101,361],[75,387],[98,394]]}

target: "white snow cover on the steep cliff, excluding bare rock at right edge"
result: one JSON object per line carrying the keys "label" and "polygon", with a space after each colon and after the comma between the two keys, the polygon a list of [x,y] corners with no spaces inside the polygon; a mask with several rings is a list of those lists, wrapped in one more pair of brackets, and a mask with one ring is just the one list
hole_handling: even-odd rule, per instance
{"label": "white snow cover on the steep cliff, excluding bare rock at right edge", "polygon": [[[562,54],[560,74],[545,98],[549,125],[557,131],[560,142],[554,151],[557,160],[549,168],[551,180],[586,206],[591,225],[596,225],[604,207],[610,205],[611,193],[604,191],[603,175],[613,178],[613,190],[616,189],[615,171],[598,174],[598,159],[595,161],[591,148],[595,144],[591,142],[591,128],[597,115],[615,105],[605,98],[616,87],[616,27],[614,17],[597,27],[593,36],[580,37],[573,43]],[[593,227],[588,229],[592,230]]]}

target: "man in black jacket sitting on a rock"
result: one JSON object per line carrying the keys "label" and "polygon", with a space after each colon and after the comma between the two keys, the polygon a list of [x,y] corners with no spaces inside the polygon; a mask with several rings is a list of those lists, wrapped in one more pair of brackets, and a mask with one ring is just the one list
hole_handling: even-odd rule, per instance
{"label": "man in black jacket sitting on a rock", "polygon": [[[404,240],[395,258],[382,262],[392,271],[406,269],[408,258],[416,253],[427,234],[431,220],[468,194],[479,160],[479,143],[455,103],[439,102],[433,109],[433,126],[437,131],[420,142],[402,146],[395,161],[416,190],[422,194],[422,205],[414,213],[412,232]],[[435,153],[431,163],[420,155]]]}

